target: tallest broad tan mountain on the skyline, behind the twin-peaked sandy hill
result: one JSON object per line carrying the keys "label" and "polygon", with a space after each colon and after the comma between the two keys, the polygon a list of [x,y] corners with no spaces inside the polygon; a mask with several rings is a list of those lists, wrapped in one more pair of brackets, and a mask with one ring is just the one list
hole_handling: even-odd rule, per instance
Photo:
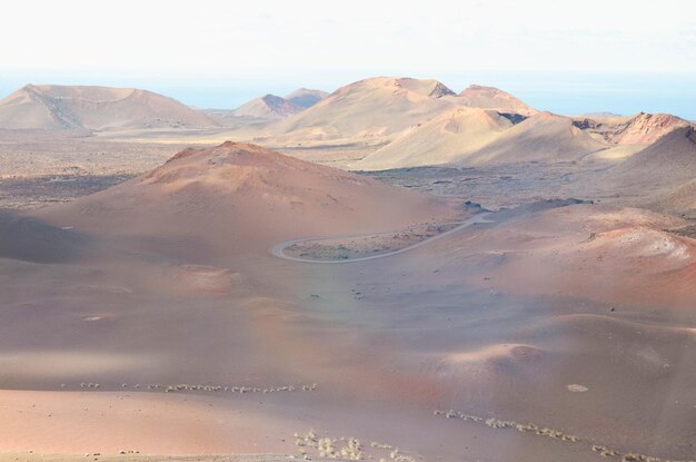
{"label": "tallest broad tan mountain on the skyline, behind the twin-peaked sandy hill", "polygon": [[[434,124],[443,122],[448,114],[460,108],[495,110],[514,124],[537,112],[493,87],[470,86],[457,95],[435,79],[375,77],[344,86],[306,110],[259,129],[253,136],[272,146],[379,146],[416,131],[436,118],[439,121]],[[428,126],[428,129],[434,127]],[[407,150],[412,151],[410,147]]]}

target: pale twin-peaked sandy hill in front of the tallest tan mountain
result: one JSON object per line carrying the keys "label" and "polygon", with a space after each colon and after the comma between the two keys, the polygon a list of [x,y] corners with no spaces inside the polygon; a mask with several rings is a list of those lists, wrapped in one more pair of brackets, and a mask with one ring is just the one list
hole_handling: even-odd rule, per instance
{"label": "pale twin-peaked sandy hill in front of the tallest tan mountain", "polygon": [[570,161],[606,148],[568,117],[538,112],[528,118],[480,108],[457,109],[411,130],[350,165],[380,170],[428,165],[487,166],[523,161]]}

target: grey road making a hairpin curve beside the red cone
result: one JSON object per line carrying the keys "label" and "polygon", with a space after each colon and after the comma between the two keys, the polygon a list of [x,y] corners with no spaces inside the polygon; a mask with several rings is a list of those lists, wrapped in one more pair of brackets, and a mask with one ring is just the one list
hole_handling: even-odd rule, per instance
{"label": "grey road making a hairpin curve beside the red cone", "polygon": [[[381,234],[389,234],[389,233],[397,233],[399,230],[404,230],[404,229],[397,229],[394,232],[382,232],[382,233],[361,233],[361,234],[350,234],[350,235],[346,235],[346,236],[329,236],[329,237],[302,237],[299,239],[290,239],[290,240],[286,240],[282,242],[280,244],[276,244],[271,249],[270,253],[274,256],[277,256],[279,258],[285,258],[285,259],[289,259],[292,262],[300,262],[300,263],[330,263],[330,264],[336,264],[336,263],[354,263],[354,262],[367,262],[369,259],[377,259],[377,258],[386,258],[386,257],[390,257],[394,255],[398,255],[398,254],[402,254],[405,252],[409,252],[409,250],[414,250],[418,247],[422,247],[426,244],[430,244],[434,240],[437,239],[441,239],[445,236],[449,236],[450,234],[455,234],[460,232],[464,228],[468,228],[469,226],[476,225],[477,223],[493,223],[491,220],[487,220],[486,217],[491,215],[491,213],[484,213],[484,214],[478,214],[469,219],[467,219],[466,222],[456,222],[455,224],[458,225],[455,228],[451,228],[445,233],[440,233],[438,235],[435,235],[432,237],[428,237],[427,239],[424,239],[419,243],[409,245],[408,247],[404,247],[404,248],[399,248],[398,250],[394,250],[394,252],[388,252],[386,254],[379,254],[379,255],[370,255],[369,257],[359,257],[359,258],[347,258],[347,259],[311,259],[311,258],[300,258],[300,257],[291,257],[289,255],[285,254],[285,249],[290,247],[291,245],[295,244],[300,244],[300,243],[306,243],[306,242],[310,242],[310,240],[331,240],[331,239],[338,239],[341,237],[345,238],[350,238],[350,237],[361,237],[361,236],[372,236],[372,235],[381,235]],[[453,223],[440,223],[439,225],[453,225]]]}

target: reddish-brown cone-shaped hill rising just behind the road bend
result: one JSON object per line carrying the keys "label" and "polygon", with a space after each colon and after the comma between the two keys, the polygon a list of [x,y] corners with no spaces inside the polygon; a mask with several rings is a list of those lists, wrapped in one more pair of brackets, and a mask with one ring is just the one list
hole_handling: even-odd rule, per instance
{"label": "reddish-brown cone-shaped hill rising just behind the road bend", "polygon": [[454,214],[426,195],[231,141],[182,150],[146,175],[38,213],[100,236],[199,242],[220,257],[292,237],[389,230]]}

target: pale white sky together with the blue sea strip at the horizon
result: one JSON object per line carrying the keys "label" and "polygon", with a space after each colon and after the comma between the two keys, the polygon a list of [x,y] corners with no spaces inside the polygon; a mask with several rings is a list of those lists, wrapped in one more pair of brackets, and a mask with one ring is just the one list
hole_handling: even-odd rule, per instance
{"label": "pale white sky together with the blue sea strip at the horizon", "polygon": [[7,0],[0,95],[139,87],[232,108],[374,76],[499,86],[564,114],[696,119],[693,0]]}

